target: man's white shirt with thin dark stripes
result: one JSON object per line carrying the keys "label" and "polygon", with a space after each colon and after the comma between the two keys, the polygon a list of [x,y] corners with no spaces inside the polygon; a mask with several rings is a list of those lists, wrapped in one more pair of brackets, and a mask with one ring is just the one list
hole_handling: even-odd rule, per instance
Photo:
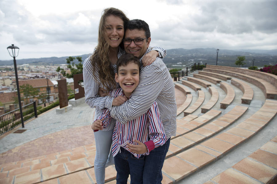
{"label": "man's white shirt with thin dark stripes", "polygon": [[[148,53],[150,48],[147,49]],[[109,101],[113,99],[107,99]],[[139,76],[139,85],[132,93],[132,97],[119,106],[107,107],[110,115],[121,123],[126,123],[142,116],[151,105],[157,102],[160,118],[167,139],[176,135],[177,104],[175,100],[175,88],[171,75],[161,58],[142,67]],[[111,103],[111,102],[106,102]]]}

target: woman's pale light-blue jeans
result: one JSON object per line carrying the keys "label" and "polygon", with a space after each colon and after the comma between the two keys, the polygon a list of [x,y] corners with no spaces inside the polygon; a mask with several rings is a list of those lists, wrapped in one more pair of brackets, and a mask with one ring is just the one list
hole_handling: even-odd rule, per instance
{"label": "woman's pale light-blue jeans", "polygon": [[[114,164],[111,153],[113,130],[94,132],[96,155],[94,159],[94,173],[97,184],[105,182],[105,167]],[[109,156],[110,154],[110,156]],[[109,157],[109,159],[108,159]]]}

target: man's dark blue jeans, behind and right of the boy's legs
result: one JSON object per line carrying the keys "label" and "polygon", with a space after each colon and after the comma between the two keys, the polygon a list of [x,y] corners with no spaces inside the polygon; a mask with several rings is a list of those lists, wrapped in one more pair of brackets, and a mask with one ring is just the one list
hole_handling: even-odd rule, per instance
{"label": "man's dark blue jeans, behind and right of the boy's legs", "polygon": [[143,183],[161,184],[163,180],[163,162],[167,155],[169,144],[170,139],[164,145],[155,148],[150,151],[149,155],[145,156]]}

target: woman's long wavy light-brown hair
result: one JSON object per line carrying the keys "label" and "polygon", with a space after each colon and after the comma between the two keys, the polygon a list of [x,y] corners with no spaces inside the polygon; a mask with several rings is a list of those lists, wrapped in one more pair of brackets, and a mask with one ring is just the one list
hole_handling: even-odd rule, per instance
{"label": "woman's long wavy light-brown hair", "polygon": [[[103,84],[103,88],[106,90],[106,92],[116,87],[116,82],[114,80],[114,70],[110,66],[110,45],[107,42],[105,35],[105,21],[106,17],[109,15],[114,15],[121,18],[124,25],[127,21],[129,21],[129,19],[121,10],[116,8],[107,8],[103,10],[98,28],[98,45],[94,51],[94,54],[90,56],[90,62],[93,67],[94,79],[97,79],[96,74],[98,74],[100,81],[97,82]],[[95,72],[96,70],[98,70],[98,72]]]}

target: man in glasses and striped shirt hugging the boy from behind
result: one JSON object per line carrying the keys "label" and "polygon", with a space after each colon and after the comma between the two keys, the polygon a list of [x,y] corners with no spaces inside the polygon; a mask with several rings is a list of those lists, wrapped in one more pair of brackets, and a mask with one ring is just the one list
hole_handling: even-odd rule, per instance
{"label": "man in glasses and striped shirt hugging the boy from behind", "polygon": [[[145,21],[134,19],[125,25],[123,39],[127,53],[141,58],[150,51],[151,41],[149,26]],[[132,93],[131,98],[120,106],[112,106],[111,117],[121,123],[140,117],[156,101],[160,110],[167,141],[163,146],[155,148],[145,157],[143,183],[161,183],[162,167],[169,148],[170,137],[176,134],[177,105],[175,89],[171,75],[158,58],[150,65],[143,67],[140,72],[139,85]]]}

